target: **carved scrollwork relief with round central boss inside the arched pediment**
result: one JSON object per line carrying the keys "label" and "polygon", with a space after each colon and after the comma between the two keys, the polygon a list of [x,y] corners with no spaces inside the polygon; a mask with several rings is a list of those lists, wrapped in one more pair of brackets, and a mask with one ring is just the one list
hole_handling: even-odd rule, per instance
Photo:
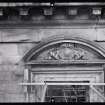
{"label": "carved scrollwork relief with round central boss inside the arched pediment", "polygon": [[73,44],[65,43],[60,47],[52,48],[48,51],[49,60],[86,60],[86,51],[82,48],[74,47]]}

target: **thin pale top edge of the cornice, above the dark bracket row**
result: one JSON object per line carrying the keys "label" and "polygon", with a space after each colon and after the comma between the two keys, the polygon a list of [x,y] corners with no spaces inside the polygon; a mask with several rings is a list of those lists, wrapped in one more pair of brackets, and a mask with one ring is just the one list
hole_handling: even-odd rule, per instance
{"label": "thin pale top edge of the cornice, above the dark bracket row", "polygon": [[[53,6],[104,6],[105,2],[55,2]],[[2,2],[0,7],[16,7],[16,6],[51,6],[51,2]]]}

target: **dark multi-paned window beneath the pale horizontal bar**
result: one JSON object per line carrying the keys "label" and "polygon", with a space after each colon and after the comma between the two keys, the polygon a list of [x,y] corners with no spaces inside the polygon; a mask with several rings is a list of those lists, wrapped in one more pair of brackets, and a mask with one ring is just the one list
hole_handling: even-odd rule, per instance
{"label": "dark multi-paned window beneath the pale horizontal bar", "polygon": [[83,85],[49,85],[45,94],[45,102],[87,102],[89,86]]}

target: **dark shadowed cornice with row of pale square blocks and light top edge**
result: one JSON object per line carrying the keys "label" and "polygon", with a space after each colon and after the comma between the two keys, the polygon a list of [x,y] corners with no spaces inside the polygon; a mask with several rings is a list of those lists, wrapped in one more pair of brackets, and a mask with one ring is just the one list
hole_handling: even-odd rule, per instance
{"label": "dark shadowed cornice with row of pale square blocks and light top edge", "polygon": [[[105,19],[104,6],[105,2],[0,3],[0,20],[2,20],[0,24],[9,24],[9,22],[14,24],[15,21],[17,24],[22,21],[26,23],[27,21],[42,23],[45,21],[47,23],[46,20],[50,20],[50,24],[52,24],[53,19],[72,21],[80,19],[80,22],[82,22],[81,20],[100,20]],[[75,23],[75,21],[73,22]],[[60,22],[58,21],[58,23]]]}

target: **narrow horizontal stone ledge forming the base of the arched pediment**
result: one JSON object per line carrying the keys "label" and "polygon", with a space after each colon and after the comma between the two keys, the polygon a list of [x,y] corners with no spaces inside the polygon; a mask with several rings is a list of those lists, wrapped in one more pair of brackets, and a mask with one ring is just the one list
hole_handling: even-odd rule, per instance
{"label": "narrow horizontal stone ledge forming the base of the arched pediment", "polygon": [[31,61],[28,63],[25,63],[25,65],[59,65],[59,64],[68,64],[68,65],[73,65],[73,64],[105,64],[105,60],[40,60],[40,61]]}

